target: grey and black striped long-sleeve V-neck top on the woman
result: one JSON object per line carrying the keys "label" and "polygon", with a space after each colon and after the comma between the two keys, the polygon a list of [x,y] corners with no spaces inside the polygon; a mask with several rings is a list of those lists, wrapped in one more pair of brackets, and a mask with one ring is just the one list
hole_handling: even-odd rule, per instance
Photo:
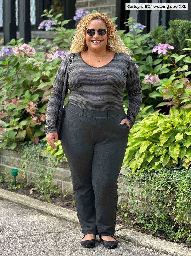
{"label": "grey and black striped long-sleeve V-neck top on the woman", "polygon": [[[56,72],[47,105],[45,133],[57,132],[56,120],[60,109],[67,54]],[[66,93],[68,102],[85,109],[112,110],[123,107],[123,94],[127,89],[129,106],[125,119],[130,127],[135,123],[142,102],[140,76],[135,62],[126,53],[115,53],[113,59],[102,67],[85,63],[80,52],[75,53],[68,69]],[[66,95],[65,93],[65,95]]]}

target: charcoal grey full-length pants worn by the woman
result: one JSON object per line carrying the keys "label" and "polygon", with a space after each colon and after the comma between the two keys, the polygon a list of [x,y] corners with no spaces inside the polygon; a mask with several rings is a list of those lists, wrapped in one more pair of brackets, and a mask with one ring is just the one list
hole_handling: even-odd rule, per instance
{"label": "charcoal grey full-length pants worn by the woman", "polygon": [[118,203],[118,176],[127,148],[126,113],[64,108],[61,145],[68,160],[77,216],[83,234],[113,236]]}

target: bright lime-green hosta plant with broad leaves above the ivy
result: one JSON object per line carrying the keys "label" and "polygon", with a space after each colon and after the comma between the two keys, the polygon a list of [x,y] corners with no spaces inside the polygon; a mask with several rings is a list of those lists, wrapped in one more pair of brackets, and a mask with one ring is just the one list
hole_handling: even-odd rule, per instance
{"label": "bright lime-green hosta plant with broad leaves above the ivy", "polygon": [[135,124],[129,133],[123,166],[134,173],[145,167],[159,170],[191,164],[191,111],[170,108],[170,115],[154,113]]}

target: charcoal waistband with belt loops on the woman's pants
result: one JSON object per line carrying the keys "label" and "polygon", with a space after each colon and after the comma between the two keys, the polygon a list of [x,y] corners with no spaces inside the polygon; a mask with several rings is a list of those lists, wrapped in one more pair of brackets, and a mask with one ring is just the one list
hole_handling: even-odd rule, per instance
{"label": "charcoal waistband with belt loops on the woman's pants", "polygon": [[65,109],[69,109],[72,112],[79,114],[81,116],[87,115],[92,117],[108,117],[109,118],[110,116],[123,115],[125,113],[123,107],[118,109],[112,109],[112,110],[91,110],[91,109],[78,107],[69,102],[66,104]]}

